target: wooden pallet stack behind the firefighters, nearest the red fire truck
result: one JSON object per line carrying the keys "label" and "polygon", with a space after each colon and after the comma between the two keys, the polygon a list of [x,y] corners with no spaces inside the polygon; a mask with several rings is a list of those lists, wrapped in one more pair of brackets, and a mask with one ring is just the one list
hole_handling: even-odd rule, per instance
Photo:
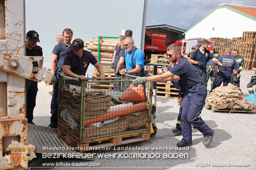
{"label": "wooden pallet stack behind the firefighters, nearest the red fire truck", "polygon": [[211,41],[215,41],[216,45],[216,51],[219,52],[221,56],[225,54],[226,48],[231,48],[232,40],[231,39],[226,39],[226,38],[211,38]]}

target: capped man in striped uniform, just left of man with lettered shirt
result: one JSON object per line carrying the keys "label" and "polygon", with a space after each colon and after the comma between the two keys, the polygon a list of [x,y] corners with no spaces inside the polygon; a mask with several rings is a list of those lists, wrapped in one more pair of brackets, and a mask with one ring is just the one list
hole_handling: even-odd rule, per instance
{"label": "capped man in striped uniform, just left of man with lettered shirt", "polygon": [[[213,55],[214,58],[218,59],[219,58],[219,53],[216,50],[216,46],[214,44],[211,44],[211,51],[210,53]],[[206,64],[206,72],[207,72],[207,77],[206,77],[206,87],[208,84],[208,80],[211,77],[211,89],[213,86],[213,82],[216,79],[216,73],[215,73],[215,63],[212,60],[209,60]]]}

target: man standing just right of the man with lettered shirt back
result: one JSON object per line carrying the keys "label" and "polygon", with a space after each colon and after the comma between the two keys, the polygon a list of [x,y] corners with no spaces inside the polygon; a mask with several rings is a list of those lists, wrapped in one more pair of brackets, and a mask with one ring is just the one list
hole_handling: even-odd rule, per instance
{"label": "man standing just right of the man with lettered shirt back", "polygon": [[235,49],[233,55],[236,59],[237,70],[232,74],[230,83],[236,87],[240,87],[240,72],[244,69],[244,58],[239,56],[239,50]]}

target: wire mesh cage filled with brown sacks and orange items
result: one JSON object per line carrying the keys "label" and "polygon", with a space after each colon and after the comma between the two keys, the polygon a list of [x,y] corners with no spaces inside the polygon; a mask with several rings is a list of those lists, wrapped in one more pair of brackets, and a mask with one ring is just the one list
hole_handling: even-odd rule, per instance
{"label": "wire mesh cage filled with brown sacks and orange items", "polygon": [[58,128],[80,142],[150,130],[152,83],[134,87],[135,78],[102,81],[61,75]]}

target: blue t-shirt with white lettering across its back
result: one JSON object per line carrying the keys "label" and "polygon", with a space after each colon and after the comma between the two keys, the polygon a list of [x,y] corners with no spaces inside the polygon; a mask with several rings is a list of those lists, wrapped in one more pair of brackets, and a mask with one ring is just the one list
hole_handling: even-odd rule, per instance
{"label": "blue t-shirt with white lettering across its back", "polygon": [[[233,71],[233,69],[237,69],[236,59],[233,56],[225,54],[224,56],[220,56],[218,60],[223,64],[223,66],[225,66],[228,69],[228,71]],[[219,71],[224,70],[224,68],[219,66]]]}

